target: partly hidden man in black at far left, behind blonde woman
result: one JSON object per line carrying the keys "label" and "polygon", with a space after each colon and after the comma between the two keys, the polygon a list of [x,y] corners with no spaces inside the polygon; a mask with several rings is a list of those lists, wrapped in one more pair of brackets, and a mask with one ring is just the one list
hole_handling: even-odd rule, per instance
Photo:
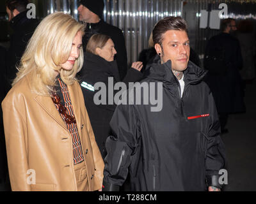
{"label": "partly hidden man in black at far left, behind blonde woman", "polygon": [[17,66],[26,48],[26,45],[33,35],[38,20],[27,17],[28,0],[8,0],[6,1],[6,12],[13,34],[10,40],[10,48],[6,55],[6,80],[7,91],[12,87],[12,80],[16,77]]}

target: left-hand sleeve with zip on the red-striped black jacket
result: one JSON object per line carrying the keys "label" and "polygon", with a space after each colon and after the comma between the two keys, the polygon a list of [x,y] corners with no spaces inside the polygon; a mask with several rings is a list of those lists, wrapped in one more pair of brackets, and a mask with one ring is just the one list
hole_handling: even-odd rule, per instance
{"label": "left-hand sleeve with zip on the red-striped black jacket", "polygon": [[140,122],[132,105],[118,105],[111,119],[113,136],[106,140],[103,191],[118,191],[124,184],[132,154],[138,147]]}

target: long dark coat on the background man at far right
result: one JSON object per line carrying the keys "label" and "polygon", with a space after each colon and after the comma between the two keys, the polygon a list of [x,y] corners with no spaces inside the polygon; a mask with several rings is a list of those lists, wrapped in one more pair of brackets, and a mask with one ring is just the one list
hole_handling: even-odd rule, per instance
{"label": "long dark coat on the background man at far right", "polygon": [[[216,47],[223,49],[227,69],[218,75],[209,71],[205,82],[212,91],[218,113],[244,112],[243,89],[239,73],[239,69],[243,67],[243,59],[239,41],[228,33],[213,36],[207,43],[205,56]],[[207,69],[205,59],[204,68]]]}

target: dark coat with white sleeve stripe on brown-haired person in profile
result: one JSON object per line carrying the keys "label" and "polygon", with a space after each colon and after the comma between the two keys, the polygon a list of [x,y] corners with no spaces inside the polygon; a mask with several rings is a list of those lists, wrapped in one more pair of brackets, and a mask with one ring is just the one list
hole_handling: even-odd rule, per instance
{"label": "dark coat with white sleeve stripe on brown-haired person in profile", "polygon": [[[108,77],[113,77],[113,85],[115,85],[116,82],[120,82],[120,77],[116,61],[108,62],[99,55],[86,52],[84,64],[85,66],[80,73],[80,84],[84,95],[84,103],[90,117],[96,142],[99,146],[102,157],[104,158],[104,156],[106,156],[106,138],[111,133],[109,122],[116,108],[115,103],[113,103],[113,105],[108,105],[108,85],[110,86],[108,83]],[[128,82],[138,82],[142,76],[143,74],[140,71],[129,68],[127,75],[122,82],[124,82],[128,87]],[[84,85],[84,82],[88,85]],[[107,87],[106,92],[104,91],[104,93],[106,93],[106,105],[96,105],[93,101],[93,96],[98,91],[92,90],[94,84],[97,82],[103,82]],[[111,90],[113,90],[113,88]],[[116,92],[118,91],[113,91],[113,96],[115,96]]]}

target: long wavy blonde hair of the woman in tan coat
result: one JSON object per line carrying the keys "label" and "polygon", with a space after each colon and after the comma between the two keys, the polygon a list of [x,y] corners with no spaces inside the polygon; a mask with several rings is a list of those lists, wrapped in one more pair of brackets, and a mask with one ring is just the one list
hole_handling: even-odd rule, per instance
{"label": "long wavy blonde hair of the woman in tan coat", "polygon": [[31,74],[31,91],[49,96],[56,83],[56,71],[60,72],[65,84],[73,84],[76,73],[83,66],[83,49],[80,49],[80,55],[70,71],[61,69],[61,64],[68,60],[72,42],[79,31],[84,34],[84,25],[68,14],[56,12],[45,17],[29,40],[12,85]]}

